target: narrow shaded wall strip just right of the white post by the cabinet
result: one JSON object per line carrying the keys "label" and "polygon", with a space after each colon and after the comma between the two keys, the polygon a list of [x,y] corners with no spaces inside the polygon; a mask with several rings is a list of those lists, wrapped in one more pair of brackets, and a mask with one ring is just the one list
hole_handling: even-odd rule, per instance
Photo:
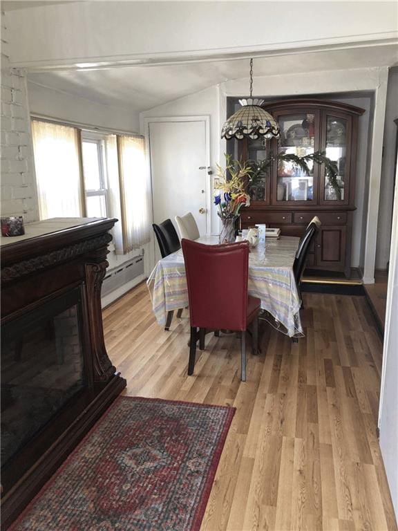
{"label": "narrow shaded wall strip just right of the white post by the cabinet", "polygon": [[390,255],[392,200],[394,197],[394,168],[396,162],[398,118],[398,71],[388,75],[386,121],[384,122],[383,163],[381,165],[381,189],[379,221],[377,223],[376,268],[386,269]]}

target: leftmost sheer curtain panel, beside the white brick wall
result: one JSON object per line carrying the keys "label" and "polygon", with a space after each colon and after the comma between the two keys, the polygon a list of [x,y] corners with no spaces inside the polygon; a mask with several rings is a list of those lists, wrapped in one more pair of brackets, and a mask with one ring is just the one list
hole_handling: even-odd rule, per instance
{"label": "leftmost sheer curtain panel, beside the white brick wall", "polygon": [[80,131],[32,120],[40,219],[85,214]]}

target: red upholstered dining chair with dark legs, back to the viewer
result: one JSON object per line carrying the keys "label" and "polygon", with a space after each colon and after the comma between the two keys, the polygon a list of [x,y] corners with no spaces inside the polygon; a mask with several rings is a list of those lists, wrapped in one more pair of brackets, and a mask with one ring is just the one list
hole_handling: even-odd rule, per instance
{"label": "red upholstered dining chair with dark legs, back to the viewer", "polygon": [[[182,239],[187,273],[191,342],[188,374],[193,374],[196,342],[203,330],[242,333],[241,379],[246,381],[246,330],[253,323],[253,351],[257,353],[257,317],[260,299],[247,295],[249,245],[203,245]],[[199,330],[198,330],[199,329]]]}

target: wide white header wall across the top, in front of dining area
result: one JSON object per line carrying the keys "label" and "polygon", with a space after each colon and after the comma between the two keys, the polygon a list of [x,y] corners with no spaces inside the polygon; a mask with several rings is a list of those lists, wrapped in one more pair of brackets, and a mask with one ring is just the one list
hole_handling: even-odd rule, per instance
{"label": "wide white header wall across the top, in front of dining area", "polygon": [[374,41],[397,32],[397,5],[85,1],[14,10],[10,22],[12,61],[39,66]]}

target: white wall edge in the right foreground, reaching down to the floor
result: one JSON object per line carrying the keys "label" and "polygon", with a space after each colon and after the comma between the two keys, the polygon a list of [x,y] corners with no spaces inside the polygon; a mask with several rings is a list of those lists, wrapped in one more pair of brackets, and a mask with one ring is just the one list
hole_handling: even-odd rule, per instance
{"label": "white wall edge in the right foreground, reaching down to the floor", "polygon": [[398,178],[395,185],[390,272],[379,406],[380,448],[398,519]]}

